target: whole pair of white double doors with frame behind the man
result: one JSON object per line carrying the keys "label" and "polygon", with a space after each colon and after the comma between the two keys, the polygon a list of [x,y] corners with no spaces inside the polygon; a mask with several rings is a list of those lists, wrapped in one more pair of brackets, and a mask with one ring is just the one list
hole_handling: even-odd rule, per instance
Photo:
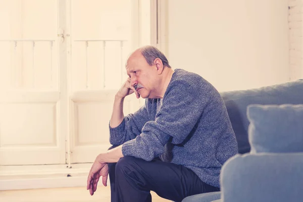
{"label": "whole pair of white double doors with frame behind the man", "polygon": [[[0,165],[93,162],[149,1],[0,0]],[[125,115],[143,99],[125,99]]]}

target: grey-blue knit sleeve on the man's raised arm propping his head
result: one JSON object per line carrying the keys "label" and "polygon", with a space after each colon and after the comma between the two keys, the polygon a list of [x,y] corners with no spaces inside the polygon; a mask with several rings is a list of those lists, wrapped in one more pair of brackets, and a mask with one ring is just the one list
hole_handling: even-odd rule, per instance
{"label": "grey-blue knit sleeve on the man's raised arm propping his head", "polygon": [[140,135],[143,125],[148,121],[148,113],[145,105],[142,106],[134,114],[124,117],[119,126],[110,128],[110,143],[113,145],[121,145],[124,142],[134,139]]}

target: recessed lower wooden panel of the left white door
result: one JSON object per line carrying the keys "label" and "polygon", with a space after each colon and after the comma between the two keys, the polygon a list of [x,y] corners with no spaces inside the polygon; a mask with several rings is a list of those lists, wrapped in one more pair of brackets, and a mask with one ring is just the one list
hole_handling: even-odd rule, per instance
{"label": "recessed lower wooden panel of the left white door", "polygon": [[56,146],[56,103],[11,103],[0,110],[2,147]]}

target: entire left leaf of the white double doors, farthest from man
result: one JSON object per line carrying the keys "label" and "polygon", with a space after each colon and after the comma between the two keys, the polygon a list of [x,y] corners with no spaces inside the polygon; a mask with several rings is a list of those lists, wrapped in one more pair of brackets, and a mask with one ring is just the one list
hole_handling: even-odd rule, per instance
{"label": "entire left leaf of the white double doors, farthest from man", "polygon": [[64,164],[64,1],[0,1],[0,164]]}

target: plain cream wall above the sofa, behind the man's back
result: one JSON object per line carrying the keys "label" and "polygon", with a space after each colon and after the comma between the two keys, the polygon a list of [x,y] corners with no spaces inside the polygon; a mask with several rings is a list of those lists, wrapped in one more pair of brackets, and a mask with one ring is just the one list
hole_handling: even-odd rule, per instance
{"label": "plain cream wall above the sofa, behind the man's back", "polygon": [[168,59],[219,91],[289,80],[288,0],[169,0]]}

